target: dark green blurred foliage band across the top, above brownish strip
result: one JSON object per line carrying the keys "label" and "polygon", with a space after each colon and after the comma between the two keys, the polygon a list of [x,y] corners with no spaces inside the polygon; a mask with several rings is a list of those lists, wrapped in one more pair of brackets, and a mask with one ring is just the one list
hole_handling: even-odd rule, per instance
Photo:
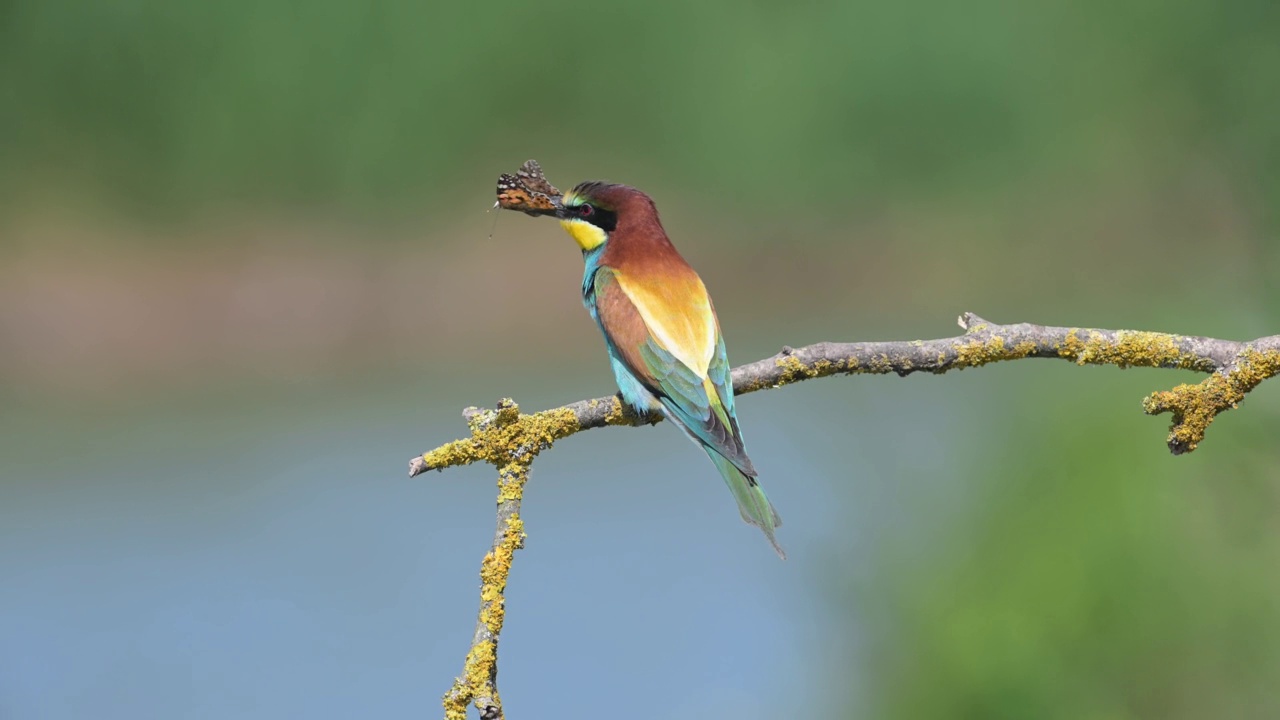
{"label": "dark green blurred foliage band across the top, above brownish strip", "polygon": [[724,202],[847,210],[1108,165],[1162,176],[1202,155],[1280,199],[1274,3],[3,12],[0,178],[140,213],[387,214],[526,156],[562,182],[648,167]]}

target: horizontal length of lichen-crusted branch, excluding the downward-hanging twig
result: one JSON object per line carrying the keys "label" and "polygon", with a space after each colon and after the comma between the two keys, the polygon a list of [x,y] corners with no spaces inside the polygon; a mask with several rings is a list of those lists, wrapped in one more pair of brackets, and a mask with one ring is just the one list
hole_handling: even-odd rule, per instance
{"label": "horizontal length of lichen-crusted branch, excluding the downward-hanging twig", "polygon": [[[1179,336],[1148,331],[1105,331],[1019,323],[1000,325],[965,313],[965,332],[941,340],[897,342],[819,342],[783,347],[765,357],[733,369],[733,391],[746,395],[828,375],[941,374],[980,368],[992,363],[1047,357],[1078,365],[1116,368],[1171,368],[1211,373],[1196,386],[1179,386],[1149,396],[1144,410],[1171,413],[1167,439],[1175,454],[1189,452],[1203,439],[1217,414],[1240,404],[1262,380],[1280,373],[1280,336],[1251,342]],[[474,413],[474,410],[468,410]],[[660,421],[658,415],[637,416],[617,396],[581,400],[563,407],[520,415],[508,425],[472,425],[470,438],[453,441],[410,461],[410,477],[443,470],[476,460],[493,461],[513,442],[534,438],[536,451],[556,441],[605,425],[640,425]]]}

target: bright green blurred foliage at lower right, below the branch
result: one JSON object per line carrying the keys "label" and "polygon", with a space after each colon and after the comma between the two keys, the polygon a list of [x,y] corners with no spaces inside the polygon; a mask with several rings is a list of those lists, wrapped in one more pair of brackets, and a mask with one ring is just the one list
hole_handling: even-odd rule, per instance
{"label": "bright green blurred foliage at lower right, below the branch", "polygon": [[872,573],[865,716],[1280,714],[1268,454],[1224,438],[1187,462],[1061,405],[991,446],[965,521]]}

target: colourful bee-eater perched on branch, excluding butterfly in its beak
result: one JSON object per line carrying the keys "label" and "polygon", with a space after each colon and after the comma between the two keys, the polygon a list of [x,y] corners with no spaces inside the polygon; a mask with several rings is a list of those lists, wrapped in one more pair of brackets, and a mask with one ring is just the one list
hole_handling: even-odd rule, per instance
{"label": "colourful bee-eater perched on branch, excluding butterfly in its beak", "polygon": [[774,538],[782,520],[742,446],[716,309],[658,208],[639,190],[602,182],[579,184],[559,205],[556,215],[582,249],[582,304],[604,333],[622,398],[660,411],[707,451],[742,520],[786,559]]}

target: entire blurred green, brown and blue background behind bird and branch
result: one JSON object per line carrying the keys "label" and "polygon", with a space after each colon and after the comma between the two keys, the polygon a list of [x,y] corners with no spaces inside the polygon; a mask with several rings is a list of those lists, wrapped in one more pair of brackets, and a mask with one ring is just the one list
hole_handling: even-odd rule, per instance
{"label": "entire blurred green, brown and blue background behind bird and branch", "polygon": [[[492,477],[612,391],[527,158],[653,195],[731,359],[995,322],[1252,338],[1270,1],[0,4],[0,716],[436,712]],[[1275,717],[1280,397],[1194,455],[1016,363],[740,404],[780,564],[668,427],[535,465],[513,717]]]}

